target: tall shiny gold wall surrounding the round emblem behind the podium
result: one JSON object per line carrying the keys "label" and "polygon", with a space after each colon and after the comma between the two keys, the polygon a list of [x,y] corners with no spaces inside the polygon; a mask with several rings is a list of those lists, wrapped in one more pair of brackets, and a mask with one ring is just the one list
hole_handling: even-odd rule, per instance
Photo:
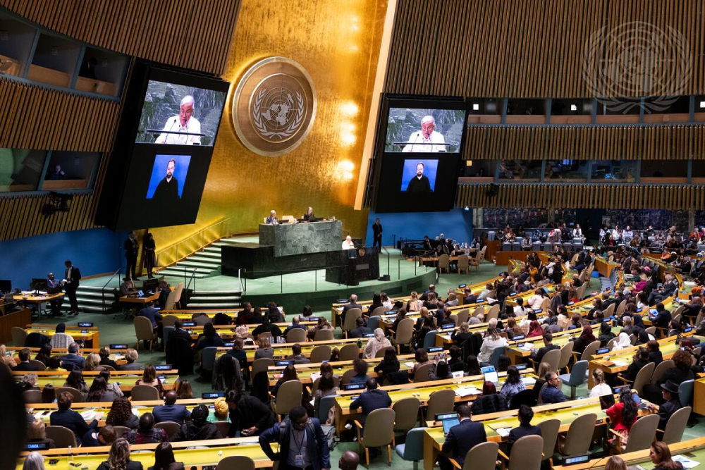
{"label": "tall shiny gold wall surrounding the round emblem behind the podium", "polygon": [[[255,231],[271,209],[300,217],[336,216],[345,233],[364,235],[367,211],[353,210],[376,59],[384,26],[383,0],[243,0],[225,80],[233,83],[197,221],[153,229],[159,247],[221,218],[233,233]],[[289,154],[259,156],[238,140],[232,94],[262,58],[283,56],[312,76],[318,109],[308,137]]]}

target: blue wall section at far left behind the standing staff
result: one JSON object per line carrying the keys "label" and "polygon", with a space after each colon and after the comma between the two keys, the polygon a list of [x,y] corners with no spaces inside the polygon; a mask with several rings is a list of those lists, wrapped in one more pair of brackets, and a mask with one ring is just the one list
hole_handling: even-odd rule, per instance
{"label": "blue wall section at far left behind the standing staff", "polygon": [[71,259],[82,276],[113,273],[124,266],[122,242],[127,233],[106,228],[51,233],[0,242],[0,279],[12,280],[12,287],[28,289],[32,278],[53,272],[63,278],[63,262]]}

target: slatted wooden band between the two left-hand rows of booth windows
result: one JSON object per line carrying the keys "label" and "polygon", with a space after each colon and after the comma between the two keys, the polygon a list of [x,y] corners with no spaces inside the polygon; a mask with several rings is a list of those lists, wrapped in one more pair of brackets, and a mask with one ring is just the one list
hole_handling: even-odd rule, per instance
{"label": "slatted wooden band between the two left-hand rows of booth windows", "polygon": [[0,77],[0,147],[110,151],[120,104]]}

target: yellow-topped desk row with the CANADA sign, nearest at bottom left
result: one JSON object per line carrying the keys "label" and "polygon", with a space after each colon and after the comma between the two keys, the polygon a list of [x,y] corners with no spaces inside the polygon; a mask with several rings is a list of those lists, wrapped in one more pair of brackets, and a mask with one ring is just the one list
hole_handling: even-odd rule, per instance
{"label": "yellow-topped desk row with the CANADA sign, nearest at bottom left", "polygon": [[[147,469],[154,465],[154,449],[158,444],[136,444],[130,446],[132,454],[130,460],[141,462]],[[203,470],[204,466],[215,468],[221,459],[232,455],[245,455],[255,461],[255,468],[271,468],[274,464],[266,457],[262,447],[259,447],[259,438],[231,438],[213,440],[190,440],[183,443],[171,443],[176,462],[182,462],[187,469]],[[195,448],[194,448],[195,447]],[[204,448],[205,447],[205,448]],[[276,447],[273,445],[273,450]],[[75,449],[42,450],[45,465],[51,470],[77,470],[97,469],[108,459],[110,447],[77,447]],[[29,453],[23,452],[18,459],[16,470],[22,470],[24,457]],[[49,465],[50,459],[56,459],[56,464]]]}

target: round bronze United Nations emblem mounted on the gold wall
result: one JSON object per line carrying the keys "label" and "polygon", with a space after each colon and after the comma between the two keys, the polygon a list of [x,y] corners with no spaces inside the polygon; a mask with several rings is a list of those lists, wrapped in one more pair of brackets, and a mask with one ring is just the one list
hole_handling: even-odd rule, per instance
{"label": "round bronze United Nations emblem mounted on the gold wall", "polygon": [[316,115],[316,90],[299,63],[271,57],[255,63],[238,83],[233,125],[245,147],[279,156],[305,139]]}

